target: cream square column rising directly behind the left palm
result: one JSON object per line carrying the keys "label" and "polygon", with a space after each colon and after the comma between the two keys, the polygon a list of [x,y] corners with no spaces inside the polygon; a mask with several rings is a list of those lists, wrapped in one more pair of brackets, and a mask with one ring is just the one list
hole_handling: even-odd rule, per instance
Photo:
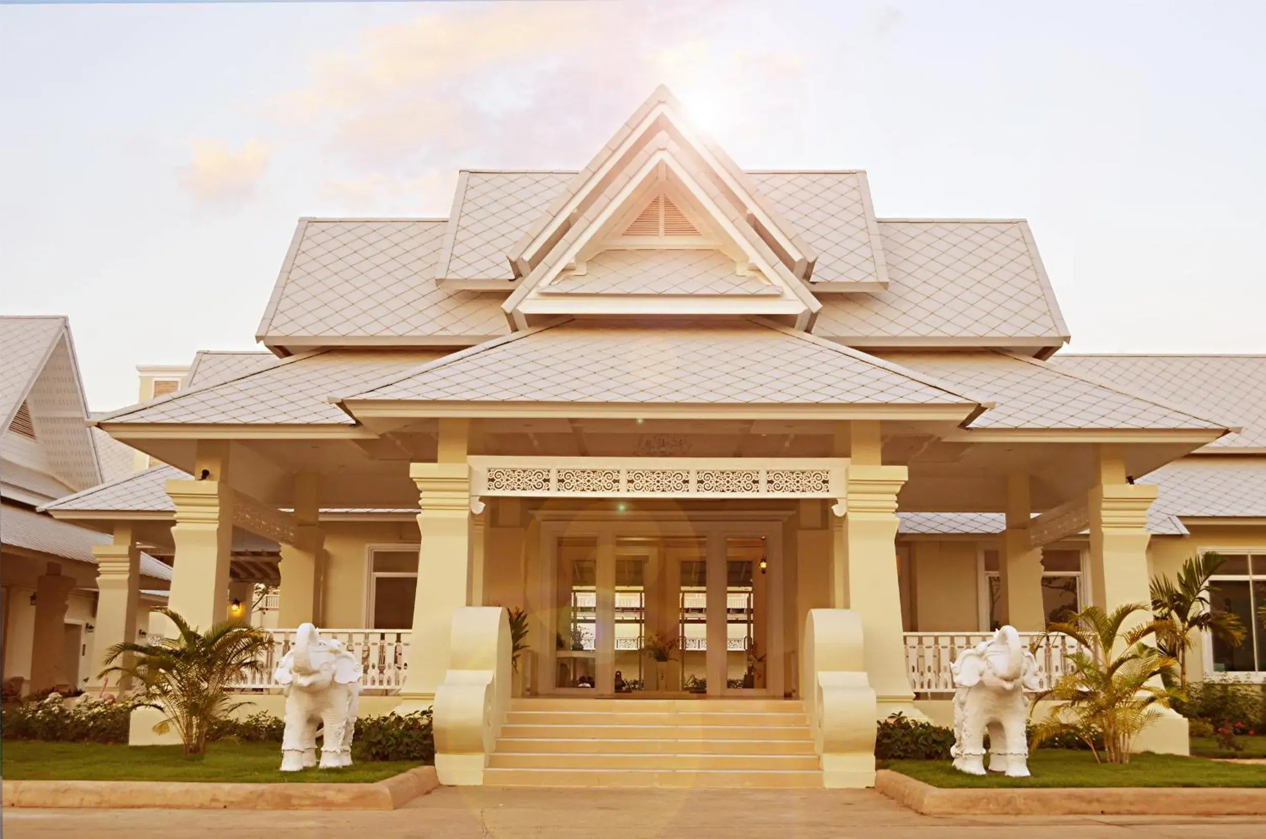
{"label": "cream square column rising directly behind the left palm", "polygon": [[[171,538],[176,544],[168,607],[190,626],[209,629],[224,620],[233,557],[233,490],[228,485],[228,443],[199,442],[194,481],[167,481],[176,506]],[[205,477],[204,477],[205,476]],[[172,630],[154,620],[161,635]]]}

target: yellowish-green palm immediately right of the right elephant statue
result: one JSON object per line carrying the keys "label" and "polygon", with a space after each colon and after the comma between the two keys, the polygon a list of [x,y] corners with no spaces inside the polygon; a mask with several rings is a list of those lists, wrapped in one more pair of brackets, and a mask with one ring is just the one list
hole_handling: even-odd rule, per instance
{"label": "yellowish-green palm immediately right of the right elephant statue", "polygon": [[1132,628],[1134,614],[1147,611],[1144,604],[1125,604],[1108,612],[1086,606],[1067,620],[1047,626],[1047,633],[1063,633],[1077,642],[1079,652],[1067,659],[1069,669],[1050,690],[1034,700],[1060,702],[1034,726],[1033,745],[1057,734],[1074,734],[1095,755],[1094,734],[1101,733],[1104,758],[1109,763],[1129,763],[1134,736],[1169,707],[1177,692],[1162,687],[1162,677],[1176,661],[1143,640],[1163,629],[1165,621],[1144,620]]}

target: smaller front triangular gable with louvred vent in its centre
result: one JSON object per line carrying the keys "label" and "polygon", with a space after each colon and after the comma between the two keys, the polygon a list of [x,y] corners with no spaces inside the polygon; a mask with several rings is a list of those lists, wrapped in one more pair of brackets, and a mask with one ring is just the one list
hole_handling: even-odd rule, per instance
{"label": "smaller front triangular gable with louvred vent in its centre", "polygon": [[765,315],[808,329],[820,306],[691,149],[661,132],[587,202],[503,310],[515,329],[562,314]]}

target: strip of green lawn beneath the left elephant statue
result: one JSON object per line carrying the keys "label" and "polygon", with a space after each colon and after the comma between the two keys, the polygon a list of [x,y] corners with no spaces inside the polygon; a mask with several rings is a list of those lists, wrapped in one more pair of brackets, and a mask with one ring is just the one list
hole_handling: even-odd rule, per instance
{"label": "strip of green lawn beneath the left elephant statue", "polygon": [[232,781],[238,783],[372,783],[417,763],[357,763],[342,769],[279,772],[276,743],[215,743],[201,761],[179,745],[106,745],[5,740],[0,774],[6,781]]}

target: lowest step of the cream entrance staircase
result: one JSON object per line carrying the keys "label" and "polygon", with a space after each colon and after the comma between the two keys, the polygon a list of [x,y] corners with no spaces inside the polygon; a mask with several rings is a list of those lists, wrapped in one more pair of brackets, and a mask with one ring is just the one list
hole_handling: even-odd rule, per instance
{"label": "lowest step of the cream entrance staircase", "polygon": [[524,787],[820,787],[818,769],[484,769],[486,786]]}

